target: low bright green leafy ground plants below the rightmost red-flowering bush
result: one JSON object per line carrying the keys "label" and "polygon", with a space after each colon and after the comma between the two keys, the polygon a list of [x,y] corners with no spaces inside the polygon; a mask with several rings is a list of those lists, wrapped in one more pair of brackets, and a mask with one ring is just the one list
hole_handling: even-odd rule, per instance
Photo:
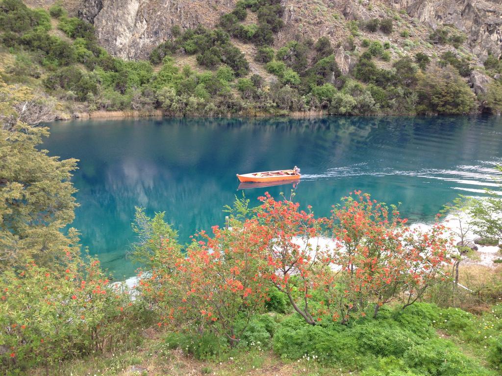
{"label": "low bright green leafy ground plants below the rightmost red-flowering bush", "polygon": [[[323,364],[360,369],[361,374],[368,376],[493,375],[494,372],[462,354],[451,341],[439,338],[432,327],[445,324],[460,330],[462,322],[473,325],[476,319],[461,312],[416,304],[405,310],[384,309],[379,319],[361,318],[349,326],[314,327],[293,315],[281,321],[276,329],[274,350],[293,360],[315,355]],[[454,324],[448,324],[450,320]],[[494,357],[489,359],[497,364],[499,342],[498,339],[492,342],[490,354]]]}

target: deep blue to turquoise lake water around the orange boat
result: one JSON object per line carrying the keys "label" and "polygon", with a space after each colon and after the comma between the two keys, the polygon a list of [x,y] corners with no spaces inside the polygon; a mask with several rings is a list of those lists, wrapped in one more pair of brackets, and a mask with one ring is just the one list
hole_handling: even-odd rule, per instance
{"label": "deep blue to turquoise lake water around the orange boat", "polygon": [[[50,124],[43,147],[80,159],[73,182],[80,207],[72,226],[116,278],[138,265],[135,206],[166,219],[188,242],[223,225],[237,172],[301,168],[295,200],[328,216],[354,189],[401,202],[413,222],[429,222],[459,194],[480,195],[502,162],[500,117],[325,117],[314,119],[141,119]],[[293,185],[246,189],[256,198]]]}

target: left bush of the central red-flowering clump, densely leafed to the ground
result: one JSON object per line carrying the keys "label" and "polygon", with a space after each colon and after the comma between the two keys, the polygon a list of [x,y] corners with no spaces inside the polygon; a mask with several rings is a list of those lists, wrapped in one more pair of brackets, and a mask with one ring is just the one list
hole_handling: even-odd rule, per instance
{"label": "left bush of the central red-flowering clump, densely leafed to the ground", "polygon": [[159,326],[225,336],[235,345],[246,329],[236,322],[263,309],[267,299],[264,274],[268,266],[260,255],[263,240],[255,236],[260,225],[245,221],[233,231],[213,227],[213,236],[201,232],[182,254],[176,243],[164,239],[153,256],[155,264],[142,275],[140,291],[161,312]]}

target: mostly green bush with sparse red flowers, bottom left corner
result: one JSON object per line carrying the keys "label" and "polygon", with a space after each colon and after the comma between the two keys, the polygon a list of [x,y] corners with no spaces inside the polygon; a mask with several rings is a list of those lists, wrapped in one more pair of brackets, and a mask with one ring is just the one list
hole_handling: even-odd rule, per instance
{"label": "mostly green bush with sparse red flowers, bottom left corner", "polygon": [[123,332],[132,305],[127,291],[110,285],[97,260],[68,254],[65,264],[62,275],[35,263],[1,275],[0,364],[49,369],[129,335]]}

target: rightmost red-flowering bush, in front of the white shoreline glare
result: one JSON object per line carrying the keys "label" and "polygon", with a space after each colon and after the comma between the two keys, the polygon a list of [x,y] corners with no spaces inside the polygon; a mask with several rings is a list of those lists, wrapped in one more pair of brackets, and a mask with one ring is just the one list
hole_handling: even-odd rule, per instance
{"label": "rightmost red-flowering bush, in front of the white shoreline glare", "polygon": [[342,322],[350,313],[364,315],[368,304],[374,305],[375,316],[395,298],[404,300],[404,306],[415,302],[446,262],[444,227],[412,231],[397,207],[389,213],[388,207],[360,191],[342,202],[332,217],[333,236],[341,245],[333,261],[340,266],[334,285]]}

